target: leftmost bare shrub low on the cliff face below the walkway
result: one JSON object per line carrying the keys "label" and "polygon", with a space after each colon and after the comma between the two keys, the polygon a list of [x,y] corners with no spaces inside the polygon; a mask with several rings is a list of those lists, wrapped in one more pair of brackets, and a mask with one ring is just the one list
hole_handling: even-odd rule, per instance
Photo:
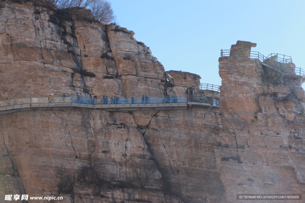
{"label": "leftmost bare shrub low on the cliff face below the walkway", "polygon": [[69,170],[63,165],[55,166],[55,177],[57,178],[56,187],[58,194],[60,193],[72,193],[73,182],[72,176]]}

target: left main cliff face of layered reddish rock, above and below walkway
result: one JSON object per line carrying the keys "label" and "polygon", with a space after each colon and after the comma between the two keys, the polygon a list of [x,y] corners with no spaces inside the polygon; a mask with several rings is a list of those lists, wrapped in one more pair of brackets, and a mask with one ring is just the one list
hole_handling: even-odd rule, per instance
{"label": "left main cliff face of layered reddish rock, above and below walkway", "polygon": [[[0,99],[172,96],[198,88],[200,76],[185,72],[171,72],[174,82],[167,82],[161,63],[132,31],[91,20],[88,10],[65,12],[1,3]],[[213,148],[221,120],[219,110],[207,108],[1,115],[0,196],[56,196],[56,167],[62,167],[72,189],[60,202],[226,202]],[[99,184],[90,173],[97,162]],[[144,188],[135,164],[156,168]]]}

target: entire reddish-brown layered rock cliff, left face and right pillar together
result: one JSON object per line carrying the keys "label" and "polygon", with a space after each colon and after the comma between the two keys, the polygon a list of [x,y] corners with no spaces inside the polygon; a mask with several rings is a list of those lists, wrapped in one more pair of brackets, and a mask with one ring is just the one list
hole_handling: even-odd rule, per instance
{"label": "entire reddish-brown layered rock cliff, left face and right pillar together", "polygon": [[[284,77],[270,84],[258,59],[232,54],[219,59],[219,95],[199,90],[199,75],[165,72],[132,31],[92,20],[88,10],[9,1],[0,7],[0,100],[64,93],[179,96],[189,87],[221,98],[220,110],[0,115],[0,202],[5,194],[81,203],[224,203],[235,202],[236,194],[304,194],[299,81]],[[144,186],[141,170],[151,173]]]}

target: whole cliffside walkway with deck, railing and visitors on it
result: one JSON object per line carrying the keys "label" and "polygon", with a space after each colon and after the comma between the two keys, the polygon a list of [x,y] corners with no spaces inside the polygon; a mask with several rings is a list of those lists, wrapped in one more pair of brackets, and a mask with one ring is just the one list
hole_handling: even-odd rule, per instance
{"label": "whole cliffside walkway with deck, railing and visitors on it", "polygon": [[43,96],[0,100],[0,114],[26,110],[58,110],[91,108],[105,111],[181,110],[198,107],[219,107],[219,100],[201,96],[112,97]]}

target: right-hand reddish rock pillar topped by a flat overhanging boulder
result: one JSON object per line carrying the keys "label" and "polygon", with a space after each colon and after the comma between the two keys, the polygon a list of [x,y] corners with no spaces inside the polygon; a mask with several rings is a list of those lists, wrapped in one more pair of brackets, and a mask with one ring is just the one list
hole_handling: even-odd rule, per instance
{"label": "right-hand reddish rock pillar topped by a flat overhanging boulder", "polygon": [[[232,47],[253,43],[242,45]],[[215,154],[227,202],[236,194],[304,196],[304,90],[289,75],[278,85],[262,82],[265,70],[258,59],[219,58],[224,128]]]}

